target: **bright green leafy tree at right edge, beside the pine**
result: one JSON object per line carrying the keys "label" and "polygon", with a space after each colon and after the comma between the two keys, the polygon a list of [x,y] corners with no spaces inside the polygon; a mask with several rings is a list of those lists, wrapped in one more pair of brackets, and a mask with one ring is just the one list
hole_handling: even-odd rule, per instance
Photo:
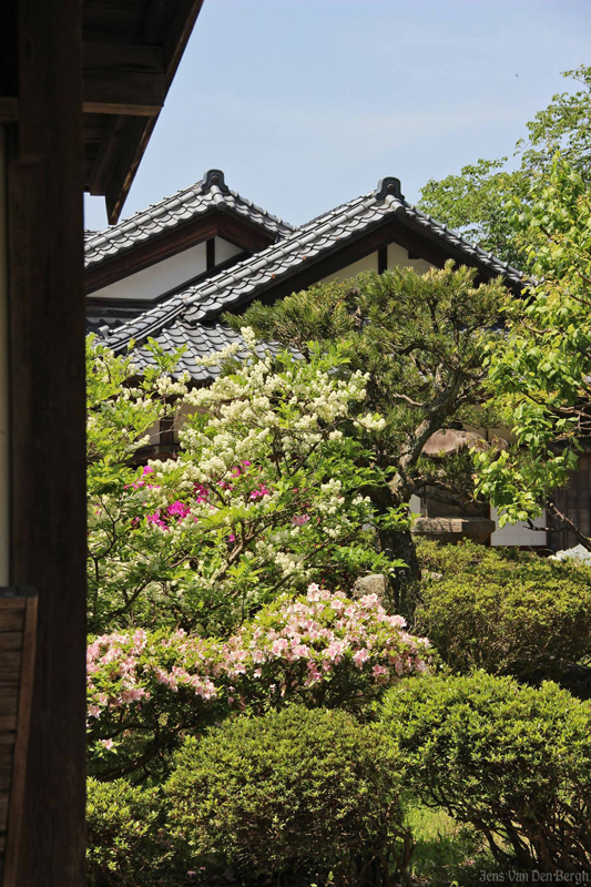
{"label": "bright green leafy tree at right edge, beside the pine", "polygon": [[546,508],[554,528],[591,550],[588,531],[554,497],[591,436],[591,195],[581,173],[557,155],[548,176],[533,180],[518,224],[540,283],[526,299],[507,302],[507,336],[489,358],[517,442],[476,456],[478,488],[503,510],[501,524]]}

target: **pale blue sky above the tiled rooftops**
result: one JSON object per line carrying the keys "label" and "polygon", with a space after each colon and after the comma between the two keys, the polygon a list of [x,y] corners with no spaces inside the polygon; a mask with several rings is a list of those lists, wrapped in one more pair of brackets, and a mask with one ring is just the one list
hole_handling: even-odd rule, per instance
{"label": "pale blue sky above the tiled rooftops", "polygon": [[293,224],[386,175],[414,203],[512,155],[590,47],[591,0],[205,0],[123,215],[212,167]]}

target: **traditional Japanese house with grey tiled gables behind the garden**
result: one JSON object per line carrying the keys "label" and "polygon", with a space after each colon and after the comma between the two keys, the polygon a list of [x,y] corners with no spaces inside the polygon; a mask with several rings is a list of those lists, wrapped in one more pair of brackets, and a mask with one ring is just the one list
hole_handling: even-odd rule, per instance
{"label": "traditional Japanese house with grey tiled gables behind the garden", "polygon": [[[185,347],[180,370],[207,384],[218,368],[196,358],[238,338],[221,322],[253,299],[274,302],[312,284],[347,279],[361,271],[410,266],[419,273],[454,259],[478,271],[478,281],[502,276],[518,295],[524,278],[505,262],[409,204],[400,182],[383,179],[374,191],[294,227],[231,191],[220,170],[191,187],[103,232],[89,232],[86,316],[115,351],[135,343],[139,366],[155,338],[167,351]],[[161,442],[170,442],[163,429]],[[461,449],[465,432],[448,431],[427,448],[434,458]],[[418,531],[441,540],[470,537],[490,544],[546,548],[543,531],[526,524],[498,529],[492,513],[465,513],[415,499]],[[538,521],[542,523],[543,520]]]}

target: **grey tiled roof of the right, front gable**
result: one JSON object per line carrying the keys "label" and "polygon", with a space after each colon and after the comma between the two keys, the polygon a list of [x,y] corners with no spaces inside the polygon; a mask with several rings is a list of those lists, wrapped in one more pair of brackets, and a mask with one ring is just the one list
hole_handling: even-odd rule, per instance
{"label": "grey tiled roof of the right, front gable", "polygon": [[[388,217],[396,217],[416,232],[422,231],[434,241],[444,241],[466,255],[470,264],[476,262],[490,274],[502,275],[509,284],[523,285],[526,282],[517,268],[407,203],[400,193],[400,182],[389,177],[383,179],[369,194],[330,210],[261,253],[200,284],[185,287],[151,310],[110,334],[105,333],[106,343],[115,350],[126,348],[131,339],[141,344],[149,336],[162,344],[174,330],[175,340],[186,345],[184,360],[191,361],[192,357],[203,354],[203,343],[210,341],[211,330],[215,330],[211,350],[217,347],[215,336],[234,335],[216,323],[224,310],[258,298],[277,283],[294,276],[303,268],[304,262],[313,264],[340,249]],[[144,359],[142,349],[139,355],[141,360]]]}

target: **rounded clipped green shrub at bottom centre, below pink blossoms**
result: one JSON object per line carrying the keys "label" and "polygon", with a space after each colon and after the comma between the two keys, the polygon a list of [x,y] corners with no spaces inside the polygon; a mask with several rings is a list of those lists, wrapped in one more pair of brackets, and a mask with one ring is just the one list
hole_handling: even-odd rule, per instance
{"label": "rounded clipped green shrub at bottom centre, below pink blossoms", "polygon": [[[388,884],[410,842],[391,743],[339,711],[288,706],[188,738],[167,783],[194,867],[247,883]],[[398,840],[399,839],[399,840]],[[395,846],[396,845],[396,846]],[[351,880],[353,878],[353,880]]]}

